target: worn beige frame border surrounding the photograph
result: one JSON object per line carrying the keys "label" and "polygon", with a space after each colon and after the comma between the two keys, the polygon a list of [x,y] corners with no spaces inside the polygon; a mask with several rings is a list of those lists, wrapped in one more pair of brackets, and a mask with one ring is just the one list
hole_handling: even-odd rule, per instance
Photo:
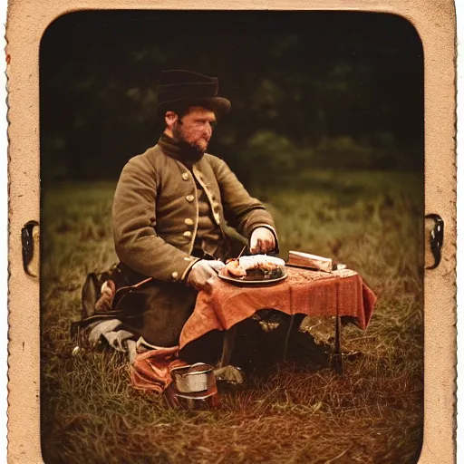
{"label": "worn beige frame border surrounding the photograph", "polygon": [[8,462],[43,462],[39,283],[24,274],[21,227],[39,220],[39,46],[58,16],[86,9],[351,10],[399,14],[425,62],[425,213],[444,219],[438,268],[425,273],[425,424],[420,464],[454,462],[456,390],[456,14],[453,0],[10,0]]}

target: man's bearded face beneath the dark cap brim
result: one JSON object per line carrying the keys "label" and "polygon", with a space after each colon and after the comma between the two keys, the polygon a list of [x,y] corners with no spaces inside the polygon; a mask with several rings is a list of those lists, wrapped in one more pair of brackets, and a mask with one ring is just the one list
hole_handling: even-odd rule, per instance
{"label": "man's bearded face beneath the dark cap brim", "polygon": [[216,116],[213,111],[198,106],[189,109],[181,120],[174,122],[174,139],[183,140],[194,149],[205,152],[213,134]]}

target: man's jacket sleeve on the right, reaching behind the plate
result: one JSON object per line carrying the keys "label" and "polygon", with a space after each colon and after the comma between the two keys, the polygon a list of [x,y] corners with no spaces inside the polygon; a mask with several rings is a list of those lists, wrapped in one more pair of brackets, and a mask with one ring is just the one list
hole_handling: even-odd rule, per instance
{"label": "man's jacket sleeve on the right, reaching behind the plate", "polygon": [[256,228],[266,227],[275,237],[275,249],[278,252],[275,223],[263,203],[250,196],[225,161],[216,157],[210,160],[218,179],[227,223],[247,238],[251,237]]}

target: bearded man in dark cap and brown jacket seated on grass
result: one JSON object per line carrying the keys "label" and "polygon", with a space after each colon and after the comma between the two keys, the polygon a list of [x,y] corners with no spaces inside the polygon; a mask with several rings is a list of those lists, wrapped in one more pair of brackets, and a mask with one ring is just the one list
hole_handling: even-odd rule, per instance
{"label": "bearded man in dark cap and brown jacket seated on grass", "polygon": [[278,251],[275,224],[227,164],[206,153],[214,126],[230,109],[218,97],[218,79],[188,71],[161,74],[158,112],[166,127],[158,143],[129,160],[112,207],[119,270],[125,285],[140,285],[121,299],[125,322],[144,341],[179,343],[199,290],[208,290],[237,248],[233,227],[250,251]]}

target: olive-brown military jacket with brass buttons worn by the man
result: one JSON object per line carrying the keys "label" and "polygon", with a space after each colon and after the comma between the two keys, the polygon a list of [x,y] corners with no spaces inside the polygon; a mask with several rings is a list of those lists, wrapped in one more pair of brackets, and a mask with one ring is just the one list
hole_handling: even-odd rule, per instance
{"label": "olive-brown military jacket with brass buttons worn by the man", "polygon": [[161,136],[156,146],[122,169],[112,206],[112,229],[122,263],[140,275],[181,282],[198,261],[191,256],[198,231],[195,179],[206,193],[223,237],[227,226],[250,237],[262,226],[275,233],[275,224],[224,160],[206,153],[187,165],[172,156],[167,139]]}

